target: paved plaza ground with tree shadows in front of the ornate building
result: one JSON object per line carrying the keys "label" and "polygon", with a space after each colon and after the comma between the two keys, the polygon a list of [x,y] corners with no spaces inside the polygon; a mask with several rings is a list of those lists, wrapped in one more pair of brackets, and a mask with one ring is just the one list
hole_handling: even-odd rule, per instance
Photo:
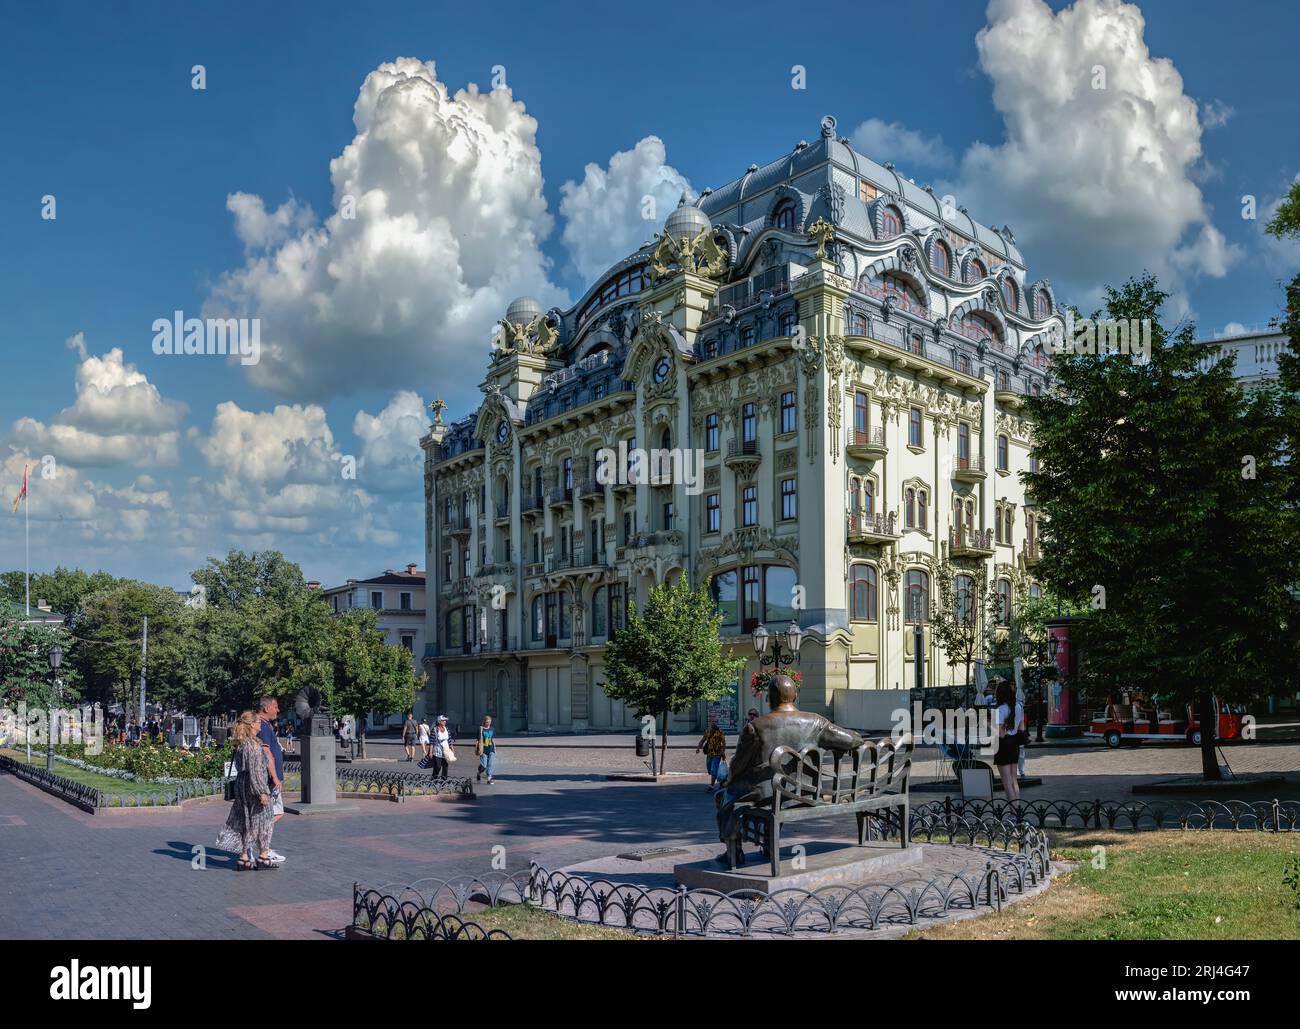
{"label": "paved plaza ground with tree shadows in front of the ornate building", "polygon": [[[226,817],[229,806],[220,799],[183,811],[88,815],[0,774],[0,937],[326,939],[350,919],[354,881],[482,874],[493,868],[498,846],[507,870],[515,872],[532,860],[560,868],[632,847],[716,841],[712,799],[703,786],[606,781],[608,772],[641,767],[627,738],[616,746],[602,746],[599,738],[581,746],[502,742],[497,783],[478,786],[477,800],[365,800],[355,813],[286,816],[274,846],[289,863],[255,873],[235,873],[229,855],[211,850],[207,867],[194,867],[194,847],[211,847]],[[398,760],[395,743],[372,741],[368,750],[365,764],[410,768]],[[1300,798],[1300,743],[1225,747],[1223,755],[1239,773],[1287,776],[1282,786],[1232,798]],[[693,742],[670,750],[670,769],[701,765]],[[462,768],[472,773],[472,757]],[[1041,776],[1043,785],[1024,796],[1143,800],[1149,798],[1130,793],[1134,785],[1199,769],[1199,752],[1187,747],[1032,748],[1027,770]],[[933,751],[922,750],[914,782],[941,770]],[[941,794],[918,793],[914,803],[936,796]],[[842,821],[826,828],[842,835]]]}

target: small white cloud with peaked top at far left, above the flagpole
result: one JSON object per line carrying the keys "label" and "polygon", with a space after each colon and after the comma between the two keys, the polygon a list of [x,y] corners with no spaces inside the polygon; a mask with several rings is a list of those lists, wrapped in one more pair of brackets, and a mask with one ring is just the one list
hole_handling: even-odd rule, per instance
{"label": "small white cloud with peaked top at far left, above the flagpole", "polygon": [[13,424],[14,442],[82,468],[177,464],[185,404],[165,400],[117,347],[95,356],[86,349],[81,333],[68,346],[79,356],[75,401],[48,425],[18,418]]}

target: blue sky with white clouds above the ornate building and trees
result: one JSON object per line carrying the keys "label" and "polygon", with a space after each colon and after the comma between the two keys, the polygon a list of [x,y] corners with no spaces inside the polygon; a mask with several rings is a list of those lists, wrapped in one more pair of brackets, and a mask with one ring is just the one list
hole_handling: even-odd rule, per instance
{"label": "blue sky with white clouds above the ornate building and trees", "polygon": [[[23,460],[53,453],[61,473],[32,486],[32,564],[183,585],[230,546],[274,546],[329,582],[422,563],[416,412],[439,394],[452,413],[473,404],[491,320],[512,290],[576,298],[589,285],[578,268],[658,227],[625,217],[619,197],[646,182],[666,204],[685,183],[720,186],[812,138],[826,113],[876,160],[953,191],[987,223],[1010,223],[1031,278],[1084,307],[1110,273],[1153,266],[1204,331],[1265,322],[1278,281],[1300,264],[1260,231],[1300,173],[1300,8],[1143,3],[1138,18],[1139,8],[1101,0],[806,13],[656,4],[653,14],[12,5],[0,26],[6,496]],[[1089,43],[1088,31],[1109,42]],[[380,73],[376,95],[395,78],[428,81],[363,133],[363,83],[400,57],[432,69]],[[1053,99],[1057,69],[1097,60],[1104,94]],[[205,90],[191,88],[194,65]],[[793,65],[807,70],[805,90],[792,88]],[[515,107],[455,99],[469,83],[486,94],[497,66]],[[1152,70],[1154,91],[1126,86]],[[450,94],[441,107],[434,79]],[[460,110],[482,155],[439,186],[429,126],[456,123]],[[411,140],[393,139],[402,133]],[[363,135],[332,182],[330,162]],[[402,165],[406,143],[422,183]],[[407,220],[363,217],[351,244],[350,229],[334,234],[311,265],[316,288],[295,294],[302,268],[277,265],[304,239],[318,244],[313,233],[330,235],[347,182]],[[448,210],[439,188],[477,191],[478,203]],[[1242,218],[1247,194],[1256,221]],[[46,195],[53,221],[40,217]],[[233,195],[243,197],[234,207]],[[463,249],[447,269],[438,255],[452,239]],[[365,266],[376,244],[377,269]],[[463,288],[442,298],[448,274]],[[286,349],[252,374],[151,349],[153,320],[174,309],[263,308]],[[333,474],[333,453],[361,459],[355,482]],[[21,566],[20,522],[0,522],[3,566]]]}

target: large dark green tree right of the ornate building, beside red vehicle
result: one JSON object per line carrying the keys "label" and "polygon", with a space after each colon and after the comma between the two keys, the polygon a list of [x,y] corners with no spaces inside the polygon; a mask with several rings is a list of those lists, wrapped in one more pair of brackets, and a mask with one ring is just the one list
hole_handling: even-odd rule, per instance
{"label": "large dark green tree right of the ornate building, beside red vehicle", "polygon": [[1105,317],[1150,321],[1149,360],[1058,355],[1054,388],[1027,401],[1040,470],[1022,476],[1045,516],[1037,574],[1088,605],[1079,642],[1098,680],[1253,700],[1294,678],[1300,656],[1278,396],[1247,395],[1231,362],[1202,370],[1193,326],[1161,324],[1166,299],[1149,274],[1108,287]]}

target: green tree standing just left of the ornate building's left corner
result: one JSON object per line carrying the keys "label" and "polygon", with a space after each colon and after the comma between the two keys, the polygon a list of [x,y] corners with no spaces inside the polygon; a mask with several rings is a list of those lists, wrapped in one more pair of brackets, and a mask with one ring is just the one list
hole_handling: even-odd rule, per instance
{"label": "green tree standing just left of the ornate building's left corner", "polygon": [[[324,608],[324,604],[321,604]],[[359,756],[365,756],[365,716],[372,711],[406,711],[424,682],[410,651],[389,643],[378,629],[378,615],[354,608],[329,626],[330,709],[356,720]]]}

